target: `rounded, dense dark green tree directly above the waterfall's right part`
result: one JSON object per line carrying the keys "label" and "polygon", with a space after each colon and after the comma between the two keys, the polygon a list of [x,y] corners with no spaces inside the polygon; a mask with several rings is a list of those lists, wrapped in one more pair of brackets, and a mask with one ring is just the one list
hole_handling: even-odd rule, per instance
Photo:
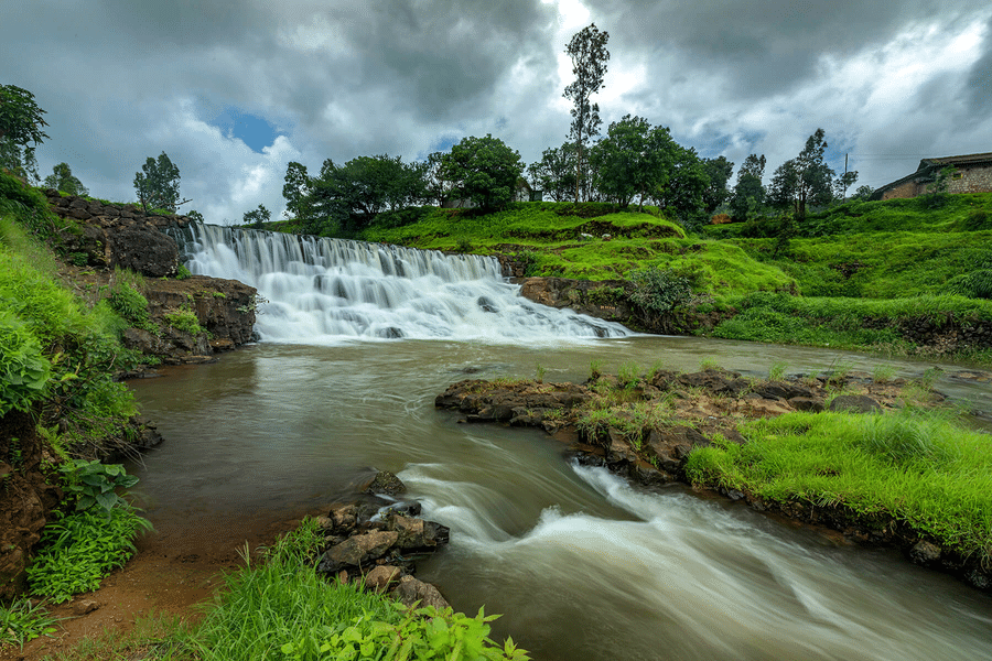
{"label": "rounded, dense dark green tree directly above the waterfall's right part", "polygon": [[498,209],[514,199],[524,172],[520,153],[498,138],[463,138],[441,156],[442,176],[463,199],[483,209]]}

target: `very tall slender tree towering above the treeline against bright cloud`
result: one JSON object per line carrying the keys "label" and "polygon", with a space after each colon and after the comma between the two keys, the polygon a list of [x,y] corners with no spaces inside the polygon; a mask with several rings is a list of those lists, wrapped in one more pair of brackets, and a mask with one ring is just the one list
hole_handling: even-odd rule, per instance
{"label": "very tall slender tree towering above the treeline against bright cloud", "polygon": [[565,53],[572,59],[575,80],[565,87],[564,96],[574,104],[571,110],[572,126],[569,139],[575,143],[575,202],[580,202],[582,159],[585,141],[600,134],[600,105],[590,104],[590,97],[603,88],[610,52],[607,32],[600,32],[595,23],[583,28],[569,42]]}

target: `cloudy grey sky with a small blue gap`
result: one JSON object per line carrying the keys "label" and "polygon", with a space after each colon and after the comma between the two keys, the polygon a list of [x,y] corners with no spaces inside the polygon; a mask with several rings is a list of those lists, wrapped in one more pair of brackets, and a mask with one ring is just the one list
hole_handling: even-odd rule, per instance
{"label": "cloudy grey sky with a small blue gap", "polygon": [[[6,0],[0,84],[35,95],[90,194],[134,199],[166,152],[211,223],[284,208],[287,163],[423,159],[492,133],[560,145],[564,47],[610,33],[603,129],[626,113],[768,171],[818,127],[877,187],[924,156],[992,151],[986,0]],[[736,176],[736,174],[735,174]]]}

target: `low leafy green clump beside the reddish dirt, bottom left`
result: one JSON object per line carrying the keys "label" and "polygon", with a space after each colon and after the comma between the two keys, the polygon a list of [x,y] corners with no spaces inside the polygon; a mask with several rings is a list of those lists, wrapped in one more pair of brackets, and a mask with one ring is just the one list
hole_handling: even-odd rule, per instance
{"label": "low leafy green clump beside the reddish dirt, bottom left", "polygon": [[31,590],[61,604],[96,589],[134,554],[134,538],[150,529],[130,507],[115,507],[107,514],[91,508],[50,521],[28,567]]}

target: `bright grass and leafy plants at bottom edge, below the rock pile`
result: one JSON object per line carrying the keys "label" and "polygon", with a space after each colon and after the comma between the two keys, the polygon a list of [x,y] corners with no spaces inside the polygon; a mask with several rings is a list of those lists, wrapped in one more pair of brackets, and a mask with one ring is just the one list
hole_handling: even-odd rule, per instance
{"label": "bright grass and leafy plants at bottom edge, below the rock pile", "polygon": [[227,578],[191,647],[204,661],[240,659],[527,659],[511,640],[487,637],[494,619],[407,609],[306,566],[323,535],[314,521],[287,535],[267,562]]}

